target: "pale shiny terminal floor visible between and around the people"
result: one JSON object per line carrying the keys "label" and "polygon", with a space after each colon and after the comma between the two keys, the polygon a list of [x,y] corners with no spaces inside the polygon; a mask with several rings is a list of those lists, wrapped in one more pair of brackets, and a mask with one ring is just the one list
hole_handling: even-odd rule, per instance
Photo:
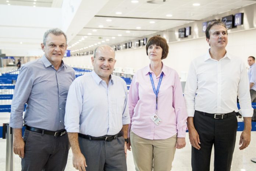
{"label": "pale shiny terminal floor visible between and around the people", "polygon": [[[3,123],[9,122],[10,113],[0,113],[0,126],[3,126]],[[242,121],[242,119],[238,119]],[[256,163],[250,161],[252,157],[256,157],[256,132],[252,132],[252,139],[250,146],[245,150],[239,150],[239,138],[241,132],[237,133],[237,142],[235,146],[235,152],[233,155],[232,168],[231,171],[255,171]],[[188,139],[188,133],[186,133],[186,147],[181,150],[176,150],[173,169],[172,171],[191,171],[191,145]],[[213,158],[213,152],[212,152]],[[14,170],[21,170],[21,159],[14,155]],[[89,163],[88,163],[89,164]],[[0,171],[5,171],[6,167],[6,139],[0,139]],[[128,171],[135,171],[132,152],[128,152],[127,155],[127,167]],[[213,171],[213,160],[211,160],[211,171]],[[72,165],[72,151],[70,150],[68,156],[68,163],[65,171],[75,171]]]}

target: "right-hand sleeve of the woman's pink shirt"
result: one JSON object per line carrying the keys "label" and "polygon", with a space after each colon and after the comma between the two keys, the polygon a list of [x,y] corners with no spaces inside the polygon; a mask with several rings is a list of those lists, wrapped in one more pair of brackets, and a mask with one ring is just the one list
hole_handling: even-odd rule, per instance
{"label": "right-hand sleeve of the woman's pink shirt", "polygon": [[175,82],[173,87],[173,107],[175,108],[175,114],[177,118],[177,137],[185,138],[186,136],[186,119],[188,115],[186,113],[186,107],[184,97],[182,95],[181,82],[179,80],[178,73],[175,73]]}

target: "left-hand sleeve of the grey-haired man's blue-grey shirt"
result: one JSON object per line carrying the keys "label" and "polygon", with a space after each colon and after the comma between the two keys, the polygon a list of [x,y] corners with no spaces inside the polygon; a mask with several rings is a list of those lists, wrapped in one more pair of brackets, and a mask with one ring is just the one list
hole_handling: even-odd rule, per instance
{"label": "left-hand sleeve of the grey-haired man's blue-grey shirt", "polygon": [[11,104],[10,127],[22,128],[24,105],[29,99],[33,87],[33,71],[31,68],[23,66],[19,72],[14,89]]}

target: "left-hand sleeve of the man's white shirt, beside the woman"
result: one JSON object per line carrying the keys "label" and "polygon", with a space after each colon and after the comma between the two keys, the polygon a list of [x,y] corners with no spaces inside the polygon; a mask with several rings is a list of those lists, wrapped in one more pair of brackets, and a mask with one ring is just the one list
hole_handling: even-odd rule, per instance
{"label": "left-hand sleeve of the man's white shirt, beside the woman", "polygon": [[197,80],[198,78],[196,76],[195,65],[192,62],[189,67],[188,78],[186,80],[186,85],[184,90],[184,99],[185,99],[188,117],[194,117],[194,114],[195,114],[195,97],[196,97],[196,90],[198,88]]}

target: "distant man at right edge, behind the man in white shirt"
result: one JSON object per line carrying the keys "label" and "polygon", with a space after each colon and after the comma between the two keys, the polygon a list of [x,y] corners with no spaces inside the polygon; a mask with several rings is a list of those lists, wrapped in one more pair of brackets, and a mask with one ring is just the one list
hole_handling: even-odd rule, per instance
{"label": "distant man at right edge, behind the man in white shirt", "polygon": [[[253,103],[256,102],[256,64],[255,57],[248,57],[248,64],[250,69],[248,71],[248,77],[250,82],[250,96]],[[256,122],[256,109],[253,110],[252,122]]]}

